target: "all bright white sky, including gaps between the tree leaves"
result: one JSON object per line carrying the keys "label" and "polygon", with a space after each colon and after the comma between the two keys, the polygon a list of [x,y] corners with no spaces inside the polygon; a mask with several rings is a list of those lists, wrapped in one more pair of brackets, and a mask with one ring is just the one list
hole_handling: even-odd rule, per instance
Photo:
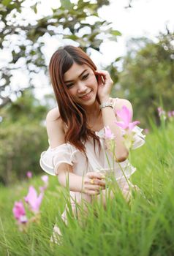
{"label": "all bright white sky, including gaps between the tree leaves", "polygon": [[[99,16],[111,22],[113,29],[122,34],[121,37],[118,37],[118,42],[105,40],[100,46],[101,53],[91,50],[91,59],[99,68],[110,64],[119,56],[124,56],[126,54],[126,42],[131,37],[145,36],[156,40],[159,31],[164,32],[166,25],[168,29],[174,31],[174,0],[132,0],[132,8],[125,8],[128,2],[129,0],[110,0],[109,6],[99,10]],[[26,0],[26,7],[27,4],[31,5],[32,0]],[[49,15],[51,14],[50,7],[58,8],[59,6],[58,0],[41,0],[41,4],[38,5],[38,15]],[[26,13],[23,12],[23,15],[27,15],[32,20],[32,15],[27,12],[27,10]],[[61,39],[58,42],[58,40],[50,39],[50,37],[45,37],[44,40],[45,47],[42,50],[48,63],[53,52],[63,42]],[[67,43],[69,42],[67,41]],[[8,59],[7,55],[5,55],[5,59]],[[42,75],[34,79],[37,85],[35,90],[37,95],[41,93],[41,90],[42,94],[50,92],[49,80]],[[13,83],[14,87],[20,86],[20,83],[21,85],[27,83],[27,78],[22,72],[15,72]]]}

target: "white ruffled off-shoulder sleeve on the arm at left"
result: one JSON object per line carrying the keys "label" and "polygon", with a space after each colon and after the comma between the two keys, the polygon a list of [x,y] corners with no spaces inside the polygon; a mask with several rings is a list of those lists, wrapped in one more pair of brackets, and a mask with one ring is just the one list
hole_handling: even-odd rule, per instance
{"label": "white ruffled off-shoulder sleeve on the arm at left", "polygon": [[58,166],[61,163],[73,165],[75,160],[75,153],[77,150],[68,143],[64,143],[56,148],[48,148],[47,151],[42,152],[39,164],[42,170],[50,175],[58,175]]}

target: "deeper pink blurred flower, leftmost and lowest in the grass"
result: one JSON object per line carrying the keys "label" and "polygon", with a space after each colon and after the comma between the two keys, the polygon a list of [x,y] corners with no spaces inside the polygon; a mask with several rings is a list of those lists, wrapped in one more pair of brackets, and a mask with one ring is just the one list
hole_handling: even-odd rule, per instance
{"label": "deeper pink blurred flower, leftmost and lowest in the grass", "polygon": [[15,202],[15,206],[12,208],[12,212],[14,214],[15,219],[18,219],[20,223],[26,223],[26,211],[21,201]]}

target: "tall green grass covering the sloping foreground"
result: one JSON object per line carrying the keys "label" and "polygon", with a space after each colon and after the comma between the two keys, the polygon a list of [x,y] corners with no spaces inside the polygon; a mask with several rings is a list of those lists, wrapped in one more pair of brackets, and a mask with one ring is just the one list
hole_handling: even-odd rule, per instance
{"label": "tall green grass covering the sloping foreground", "polygon": [[[27,194],[29,184],[39,187],[35,177],[23,184],[0,189],[0,255],[174,255],[174,123],[153,126],[146,143],[131,153],[137,167],[132,183],[134,192],[128,204],[116,190],[115,198],[104,209],[99,203],[88,207],[80,222],[69,215],[68,226],[61,221],[65,189],[50,177],[41,206],[39,224],[32,223],[26,233],[15,225],[12,207]],[[50,246],[55,222],[61,229],[61,245]]]}

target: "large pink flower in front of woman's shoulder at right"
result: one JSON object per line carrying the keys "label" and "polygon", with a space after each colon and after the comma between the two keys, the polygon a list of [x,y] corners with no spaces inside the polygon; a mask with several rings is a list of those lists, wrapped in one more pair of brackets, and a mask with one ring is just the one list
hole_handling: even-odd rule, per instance
{"label": "large pink flower in front of woman's shoulder at right", "polygon": [[122,129],[129,129],[130,131],[135,127],[135,125],[140,124],[140,121],[132,121],[132,114],[126,106],[123,106],[121,110],[117,110],[116,114],[122,121],[116,121],[118,127]]}

